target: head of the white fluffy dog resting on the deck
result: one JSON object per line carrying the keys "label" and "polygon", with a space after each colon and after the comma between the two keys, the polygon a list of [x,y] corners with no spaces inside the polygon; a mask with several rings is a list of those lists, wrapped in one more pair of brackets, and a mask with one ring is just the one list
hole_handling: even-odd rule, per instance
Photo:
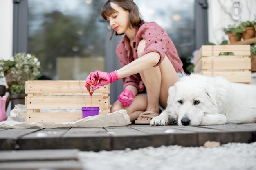
{"label": "head of the white fluffy dog resting on the deck", "polygon": [[201,75],[185,76],[169,88],[168,107],[179,126],[200,125],[204,114],[218,113],[216,89]]}

